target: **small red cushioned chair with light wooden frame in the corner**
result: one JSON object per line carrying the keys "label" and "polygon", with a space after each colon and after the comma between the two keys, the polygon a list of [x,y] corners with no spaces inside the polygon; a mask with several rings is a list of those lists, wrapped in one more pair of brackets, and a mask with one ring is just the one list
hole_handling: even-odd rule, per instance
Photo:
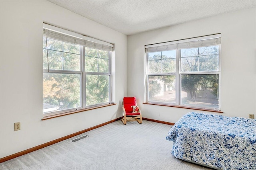
{"label": "small red cushioned chair with light wooden frame in the corner", "polygon": [[122,122],[126,125],[126,121],[138,121],[140,124],[142,123],[142,115],[140,108],[136,109],[138,113],[132,113],[133,107],[137,106],[136,98],[135,97],[124,97],[124,117],[122,118]]}

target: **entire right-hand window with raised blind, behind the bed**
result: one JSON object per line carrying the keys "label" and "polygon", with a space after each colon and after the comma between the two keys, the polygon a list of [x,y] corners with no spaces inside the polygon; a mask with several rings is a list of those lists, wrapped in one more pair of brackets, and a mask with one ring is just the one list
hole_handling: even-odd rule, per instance
{"label": "entire right-hand window with raised blind, behind the bed", "polygon": [[147,102],[220,110],[220,34],[145,45]]}

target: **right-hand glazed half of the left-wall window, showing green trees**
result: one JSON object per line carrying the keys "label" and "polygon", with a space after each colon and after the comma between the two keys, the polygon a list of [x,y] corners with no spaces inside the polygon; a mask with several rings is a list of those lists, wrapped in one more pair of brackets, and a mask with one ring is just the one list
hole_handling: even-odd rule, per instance
{"label": "right-hand glazed half of the left-wall window, showing green trees", "polygon": [[110,53],[86,47],[86,106],[110,100]]}

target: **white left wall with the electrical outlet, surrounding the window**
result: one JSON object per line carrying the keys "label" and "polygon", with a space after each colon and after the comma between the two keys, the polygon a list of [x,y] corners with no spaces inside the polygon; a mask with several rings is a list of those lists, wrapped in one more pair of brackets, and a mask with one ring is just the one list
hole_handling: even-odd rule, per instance
{"label": "white left wall with the electrical outlet, surrounding the window", "polygon": [[[127,36],[48,1],[0,1],[0,158],[122,116],[127,95]],[[43,21],[116,45],[117,105],[42,121]],[[21,130],[14,131],[14,123]]]}

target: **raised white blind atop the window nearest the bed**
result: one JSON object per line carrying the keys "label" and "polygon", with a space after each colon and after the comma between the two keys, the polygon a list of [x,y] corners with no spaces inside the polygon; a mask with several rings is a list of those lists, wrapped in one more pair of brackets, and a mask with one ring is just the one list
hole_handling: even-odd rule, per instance
{"label": "raised white blind atop the window nearest the bed", "polygon": [[176,49],[188,49],[195,47],[206,47],[219,45],[221,43],[221,35],[211,35],[205,37],[197,37],[193,39],[170,41],[167,43],[158,43],[154,45],[145,45],[146,53],[153,53],[158,51],[170,51]]}

